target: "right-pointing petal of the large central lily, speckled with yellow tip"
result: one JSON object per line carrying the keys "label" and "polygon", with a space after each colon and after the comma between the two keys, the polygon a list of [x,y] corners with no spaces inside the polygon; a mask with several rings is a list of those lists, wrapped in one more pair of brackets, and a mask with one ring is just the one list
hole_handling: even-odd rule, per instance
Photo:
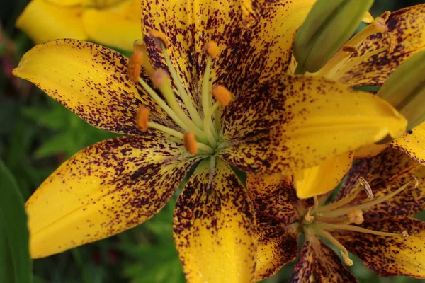
{"label": "right-pointing petal of the large central lily, speckled with yellow tip", "polygon": [[[230,103],[220,156],[254,175],[289,175],[403,134],[385,100],[319,77],[280,76]],[[227,145],[227,147],[226,147]]]}

